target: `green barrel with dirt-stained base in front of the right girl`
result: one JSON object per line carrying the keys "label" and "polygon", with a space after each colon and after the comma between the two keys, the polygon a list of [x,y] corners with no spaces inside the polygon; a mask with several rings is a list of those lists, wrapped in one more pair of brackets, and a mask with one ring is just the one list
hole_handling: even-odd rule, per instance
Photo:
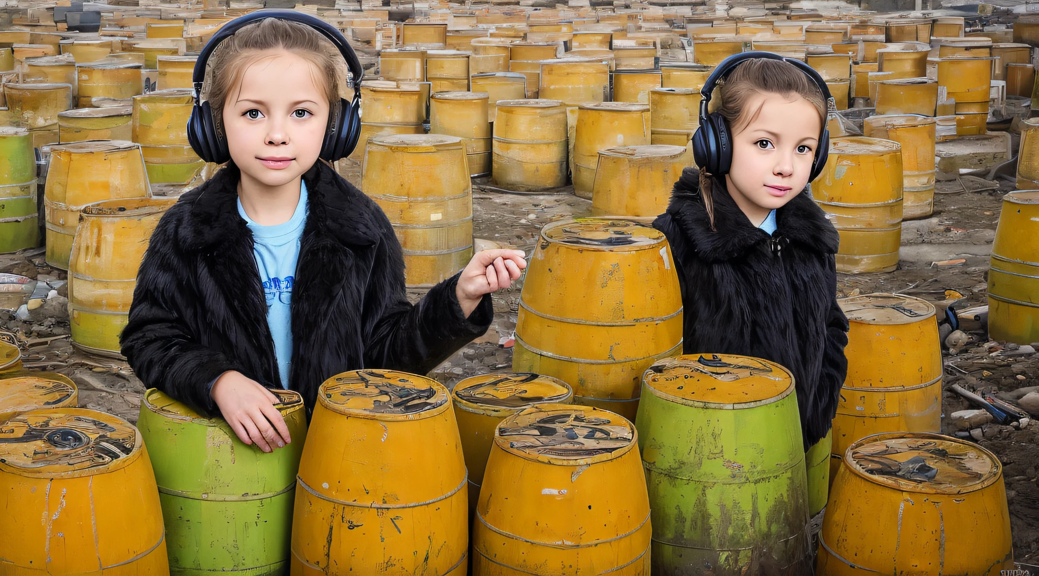
{"label": "green barrel with dirt-stained base in front of the right girl", "polygon": [[747,356],[664,359],[642,377],[652,574],[810,574],[794,377]]}

